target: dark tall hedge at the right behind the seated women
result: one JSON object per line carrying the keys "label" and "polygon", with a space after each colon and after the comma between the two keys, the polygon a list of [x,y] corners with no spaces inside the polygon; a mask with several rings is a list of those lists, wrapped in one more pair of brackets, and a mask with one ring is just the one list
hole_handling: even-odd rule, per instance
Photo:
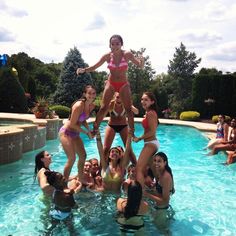
{"label": "dark tall hedge at the right behind the seated women", "polygon": [[[211,118],[213,114],[235,116],[236,75],[197,74],[193,80],[192,104],[202,117]],[[206,103],[212,99],[213,103]]]}

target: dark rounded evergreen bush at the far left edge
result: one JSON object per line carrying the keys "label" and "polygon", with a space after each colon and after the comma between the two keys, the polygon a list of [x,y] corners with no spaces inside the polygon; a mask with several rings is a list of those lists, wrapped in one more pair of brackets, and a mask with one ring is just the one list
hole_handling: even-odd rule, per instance
{"label": "dark rounded evergreen bush at the far left edge", "polygon": [[10,67],[0,68],[0,111],[12,113],[28,111],[24,89]]}

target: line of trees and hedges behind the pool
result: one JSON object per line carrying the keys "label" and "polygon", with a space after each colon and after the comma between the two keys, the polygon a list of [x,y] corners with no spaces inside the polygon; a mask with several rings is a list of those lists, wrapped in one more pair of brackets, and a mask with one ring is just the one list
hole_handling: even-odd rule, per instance
{"label": "line of trees and hedges behind the pool", "polygon": [[[131,51],[134,55],[145,55],[145,50]],[[156,74],[149,56],[144,58],[143,70],[133,64],[128,69],[133,103],[140,108],[140,115],[140,98],[144,91],[155,94],[160,117],[167,108],[176,117],[186,110],[196,110],[202,118],[219,113],[235,115],[235,72],[223,74],[215,68],[202,68],[195,73],[201,58],[197,58],[195,52],[189,52],[183,43],[175,49],[167,74]],[[33,102],[37,97],[45,97],[50,104],[70,107],[81,97],[87,84],[93,84],[100,97],[107,73],[76,75],[78,67],[87,66],[76,47],[68,51],[62,63],[43,63],[24,52],[7,55],[7,65],[0,67],[0,111],[27,112],[29,94]]]}

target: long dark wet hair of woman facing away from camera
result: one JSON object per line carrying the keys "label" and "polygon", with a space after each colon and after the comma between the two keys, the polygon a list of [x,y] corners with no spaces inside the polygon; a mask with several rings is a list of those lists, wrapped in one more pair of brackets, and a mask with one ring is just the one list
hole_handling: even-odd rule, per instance
{"label": "long dark wet hair of woman facing away from camera", "polygon": [[124,209],[124,217],[130,218],[138,214],[142,200],[142,186],[135,180],[128,185],[127,204]]}

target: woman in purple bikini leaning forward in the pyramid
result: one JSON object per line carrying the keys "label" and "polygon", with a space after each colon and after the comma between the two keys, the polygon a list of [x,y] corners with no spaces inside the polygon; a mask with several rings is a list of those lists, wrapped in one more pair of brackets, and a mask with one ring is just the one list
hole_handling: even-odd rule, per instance
{"label": "woman in purple bikini leaning forward in the pyramid", "polygon": [[[60,141],[68,158],[64,167],[64,177],[67,180],[77,154],[79,156],[78,176],[79,180],[83,182],[83,168],[86,159],[86,151],[80,133],[84,133],[88,135],[89,138],[92,138],[92,133],[89,130],[86,120],[95,108],[95,105],[93,104],[95,98],[95,88],[92,85],[87,85],[81,99],[73,103],[70,117],[59,131]],[[82,128],[82,126],[84,126],[85,129]]]}

